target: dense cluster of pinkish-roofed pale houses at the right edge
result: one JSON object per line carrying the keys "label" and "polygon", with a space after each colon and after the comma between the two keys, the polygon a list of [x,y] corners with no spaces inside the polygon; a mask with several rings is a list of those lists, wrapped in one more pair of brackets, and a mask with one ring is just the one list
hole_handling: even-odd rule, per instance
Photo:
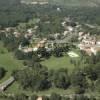
{"label": "dense cluster of pinkish-roofed pale houses at the right edge", "polygon": [[95,36],[91,36],[90,33],[79,32],[78,40],[80,41],[78,47],[80,50],[86,51],[87,54],[96,55],[100,51],[100,41]]}

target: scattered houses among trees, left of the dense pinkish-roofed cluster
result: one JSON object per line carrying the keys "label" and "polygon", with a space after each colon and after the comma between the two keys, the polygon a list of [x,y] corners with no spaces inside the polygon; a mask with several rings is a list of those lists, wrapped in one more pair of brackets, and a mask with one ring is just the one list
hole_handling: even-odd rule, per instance
{"label": "scattered houses among trees, left of the dense pinkish-roofed cluster", "polygon": [[[81,27],[76,22],[72,22],[70,18],[65,17],[61,25],[64,27],[64,31],[62,33],[51,33],[46,38],[39,38],[37,37],[36,30],[38,30],[38,26],[34,26],[32,28],[28,28],[25,30],[24,33],[18,31],[17,28],[8,27],[4,30],[0,30],[1,32],[5,32],[6,35],[13,34],[16,38],[19,38],[23,35],[26,39],[29,39],[30,45],[29,46],[22,46],[19,45],[18,49],[23,51],[24,53],[38,51],[39,48],[45,47],[47,51],[51,51],[54,49],[55,44],[66,44],[69,40],[77,35],[77,31]],[[52,38],[52,39],[50,39]]]}

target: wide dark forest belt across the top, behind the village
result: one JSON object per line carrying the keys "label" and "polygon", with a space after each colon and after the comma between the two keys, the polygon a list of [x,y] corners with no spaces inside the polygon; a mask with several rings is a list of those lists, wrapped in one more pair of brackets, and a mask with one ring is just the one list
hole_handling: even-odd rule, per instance
{"label": "wide dark forest belt across the top, behind the village", "polygon": [[[57,12],[57,7],[61,12]],[[25,5],[20,0],[0,0],[0,25],[3,27],[16,26],[19,22],[26,22],[33,17],[42,16],[70,16],[76,21],[100,25],[99,7],[61,7],[48,4]],[[44,18],[45,18],[44,16]]]}

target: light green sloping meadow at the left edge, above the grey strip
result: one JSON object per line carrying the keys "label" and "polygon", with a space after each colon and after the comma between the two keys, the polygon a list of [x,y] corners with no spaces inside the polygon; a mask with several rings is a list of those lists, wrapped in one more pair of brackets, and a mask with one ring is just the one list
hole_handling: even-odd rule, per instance
{"label": "light green sloping meadow at the left edge, above the grey strip", "polygon": [[9,53],[0,42],[0,67],[4,67],[6,75],[0,80],[0,83],[5,81],[11,76],[13,70],[21,69],[23,67],[22,61],[16,60],[13,53]]}

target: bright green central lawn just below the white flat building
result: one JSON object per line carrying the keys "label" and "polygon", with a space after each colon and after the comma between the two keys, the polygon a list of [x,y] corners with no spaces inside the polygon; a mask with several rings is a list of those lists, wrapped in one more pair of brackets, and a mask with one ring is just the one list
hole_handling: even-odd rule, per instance
{"label": "bright green central lawn just below the white flat building", "polygon": [[[63,57],[51,57],[50,59],[47,59],[45,61],[42,61],[41,63],[48,67],[48,69],[59,69],[59,68],[68,68],[69,71],[72,71],[75,67],[73,64],[70,63],[70,57],[68,55],[65,55]],[[76,58],[73,58],[76,59]]]}

